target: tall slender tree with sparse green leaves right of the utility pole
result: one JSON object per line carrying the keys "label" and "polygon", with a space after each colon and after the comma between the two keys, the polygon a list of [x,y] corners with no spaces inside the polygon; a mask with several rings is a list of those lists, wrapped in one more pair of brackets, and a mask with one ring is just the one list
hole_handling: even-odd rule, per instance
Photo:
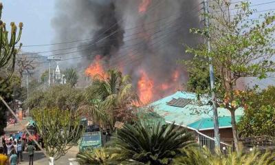
{"label": "tall slender tree with sparse green leaves right of the utility pole", "polygon": [[238,150],[235,111],[243,102],[235,88],[236,81],[250,76],[265,78],[267,73],[274,72],[275,63],[271,58],[275,52],[272,46],[275,16],[267,13],[262,21],[250,19],[256,11],[250,9],[248,1],[236,3],[234,15],[228,12],[230,1],[214,0],[211,4],[212,13],[205,14],[210,19],[210,27],[191,30],[210,39],[211,52],[206,45],[187,47],[186,52],[195,58],[194,61],[185,61],[185,64],[189,68],[196,67],[196,63],[208,65],[208,58],[212,58],[214,74],[219,77],[214,89],[217,103],[231,113],[234,146]]}

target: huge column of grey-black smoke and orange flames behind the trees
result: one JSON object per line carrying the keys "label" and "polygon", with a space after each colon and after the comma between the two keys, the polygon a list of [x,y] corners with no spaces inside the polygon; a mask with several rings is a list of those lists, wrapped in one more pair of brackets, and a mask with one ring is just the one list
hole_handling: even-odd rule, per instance
{"label": "huge column of grey-black smoke and orange flames behind the trees", "polygon": [[78,50],[68,56],[83,56],[67,65],[78,65],[87,76],[120,69],[146,103],[186,82],[177,61],[190,58],[183,44],[199,41],[189,32],[199,26],[199,8],[197,0],[59,0],[53,25],[56,41],[81,41],[67,43]]}

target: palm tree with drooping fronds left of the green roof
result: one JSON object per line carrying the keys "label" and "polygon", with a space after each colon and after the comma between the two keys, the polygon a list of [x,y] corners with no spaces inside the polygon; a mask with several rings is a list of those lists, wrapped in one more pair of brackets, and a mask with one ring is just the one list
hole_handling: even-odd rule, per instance
{"label": "palm tree with drooping fronds left of the green roof", "polygon": [[111,128],[115,120],[131,119],[131,105],[139,101],[131,85],[130,76],[122,76],[122,73],[115,69],[110,69],[104,76],[95,76],[84,98],[85,103],[80,109],[93,117],[108,121]]}

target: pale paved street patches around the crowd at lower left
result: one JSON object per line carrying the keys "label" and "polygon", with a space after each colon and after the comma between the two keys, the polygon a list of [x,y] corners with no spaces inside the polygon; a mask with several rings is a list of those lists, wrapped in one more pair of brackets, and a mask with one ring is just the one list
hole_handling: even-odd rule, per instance
{"label": "pale paved street patches around the crowd at lower left", "polygon": [[[23,120],[22,121],[23,125],[28,124],[28,120]],[[12,132],[17,132],[17,131],[21,131],[23,129],[23,127],[21,126],[21,124],[17,123],[17,124],[12,124],[7,126],[7,128],[5,129],[5,133],[7,135],[9,135]],[[76,154],[78,153],[78,146],[73,146],[71,149],[69,149],[69,151],[66,153],[66,155],[62,156],[61,158],[59,158],[58,160],[56,160],[56,164],[60,164],[60,165],[67,165],[69,164],[69,159],[70,158],[75,158]],[[28,153],[24,152],[23,153],[23,159],[24,161],[21,162],[22,165],[28,165]],[[45,157],[45,155],[43,155],[42,151],[36,151],[34,153],[34,164],[35,165],[48,165],[49,162],[47,161],[47,158]],[[73,162],[73,164],[76,164],[76,162]]]}

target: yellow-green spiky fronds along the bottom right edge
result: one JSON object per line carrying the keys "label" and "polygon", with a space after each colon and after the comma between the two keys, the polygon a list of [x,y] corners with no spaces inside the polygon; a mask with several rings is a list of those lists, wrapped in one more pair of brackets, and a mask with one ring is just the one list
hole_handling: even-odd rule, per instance
{"label": "yellow-green spiky fronds along the bottom right edge", "polygon": [[177,157],[175,164],[179,165],[274,165],[275,155],[269,152],[260,155],[259,151],[251,153],[228,152],[223,155],[220,151],[212,154],[208,148],[184,148],[186,157]]}

